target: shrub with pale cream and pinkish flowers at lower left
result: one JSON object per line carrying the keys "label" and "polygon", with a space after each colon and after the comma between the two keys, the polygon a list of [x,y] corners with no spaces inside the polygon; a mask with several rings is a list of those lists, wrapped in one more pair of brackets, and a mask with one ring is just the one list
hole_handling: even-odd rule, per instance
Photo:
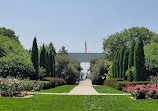
{"label": "shrub with pale cream and pinkish flowers at lower left", "polygon": [[24,96],[27,92],[25,90],[40,90],[41,83],[30,80],[22,80],[20,78],[7,77],[0,80],[0,95],[1,96]]}

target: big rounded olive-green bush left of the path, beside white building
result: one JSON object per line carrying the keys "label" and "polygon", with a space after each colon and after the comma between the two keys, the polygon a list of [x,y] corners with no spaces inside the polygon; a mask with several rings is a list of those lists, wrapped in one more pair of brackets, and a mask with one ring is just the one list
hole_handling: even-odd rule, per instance
{"label": "big rounded olive-green bush left of the path, beside white building", "polygon": [[66,54],[56,55],[55,61],[56,76],[65,79],[67,84],[75,84],[82,69],[80,63]]}

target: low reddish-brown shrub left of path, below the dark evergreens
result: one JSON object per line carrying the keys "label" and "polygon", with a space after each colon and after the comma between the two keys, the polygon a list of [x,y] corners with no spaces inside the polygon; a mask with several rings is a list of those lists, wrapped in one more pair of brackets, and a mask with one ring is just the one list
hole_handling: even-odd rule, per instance
{"label": "low reddish-brown shrub left of path, below the dark evergreens", "polygon": [[51,87],[60,86],[66,84],[66,81],[62,78],[44,77],[43,80],[51,82]]}

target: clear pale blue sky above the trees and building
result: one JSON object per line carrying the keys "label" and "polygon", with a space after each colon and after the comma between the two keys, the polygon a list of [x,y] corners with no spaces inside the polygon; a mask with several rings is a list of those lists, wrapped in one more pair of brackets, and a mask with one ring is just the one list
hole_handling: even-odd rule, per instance
{"label": "clear pale blue sky above the trees and building", "polygon": [[158,0],[0,0],[0,27],[29,49],[53,42],[58,51],[102,52],[103,38],[134,26],[158,33]]}

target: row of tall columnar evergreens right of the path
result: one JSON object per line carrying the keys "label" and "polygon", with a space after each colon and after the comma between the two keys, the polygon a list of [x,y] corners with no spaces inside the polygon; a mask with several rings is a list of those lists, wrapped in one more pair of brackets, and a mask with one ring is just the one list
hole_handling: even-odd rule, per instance
{"label": "row of tall columnar evergreens right of the path", "polygon": [[128,81],[145,80],[145,56],[142,37],[137,42],[131,42],[130,49],[123,45],[116,53],[112,65],[113,78],[123,78]]}

